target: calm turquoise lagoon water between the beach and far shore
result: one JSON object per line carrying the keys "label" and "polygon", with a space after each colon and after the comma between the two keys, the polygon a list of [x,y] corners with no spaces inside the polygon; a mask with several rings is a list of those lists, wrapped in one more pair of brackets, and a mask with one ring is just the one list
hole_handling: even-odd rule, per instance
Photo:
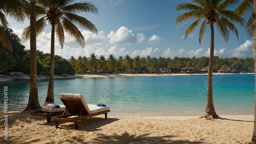
{"label": "calm turquoise lagoon water between the beach and far shore", "polygon": [[[8,86],[9,103],[27,104],[29,81],[0,82]],[[117,77],[54,80],[55,103],[60,93],[80,93],[89,104],[110,105],[112,112],[204,113],[207,75]],[[45,102],[48,80],[38,81],[40,104]],[[254,75],[214,75],[217,112],[251,112],[254,108]],[[3,103],[3,95],[0,97]]]}

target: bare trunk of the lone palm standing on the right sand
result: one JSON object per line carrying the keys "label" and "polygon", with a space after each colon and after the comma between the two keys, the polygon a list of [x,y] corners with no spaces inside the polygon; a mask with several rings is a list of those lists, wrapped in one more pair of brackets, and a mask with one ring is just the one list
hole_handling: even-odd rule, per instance
{"label": "bare trunk of the lone palm standing on the right sand", "polygon": [[204,117],[218,117],[214,109],[214,100],[212,99],[212,68],[214,66],[214,23],[210,21],[210,60],[207,79],[207,98]]}

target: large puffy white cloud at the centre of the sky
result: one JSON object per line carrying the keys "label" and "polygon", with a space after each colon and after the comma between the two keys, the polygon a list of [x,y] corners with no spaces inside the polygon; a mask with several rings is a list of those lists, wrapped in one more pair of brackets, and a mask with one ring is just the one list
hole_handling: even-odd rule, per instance
{"label": "large puffy white cloud at the centre of the sky", "polygon": [[116,32],[111,31],[106,38],[109,39],[110,44],[133,44],[142,43],[145,36],[142,33],[135,36],[132,30],[121,26]]}

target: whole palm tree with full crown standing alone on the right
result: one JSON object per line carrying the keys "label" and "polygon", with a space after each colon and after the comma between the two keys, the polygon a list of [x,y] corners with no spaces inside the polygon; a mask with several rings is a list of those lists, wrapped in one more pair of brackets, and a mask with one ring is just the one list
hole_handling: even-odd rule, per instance
{"label": "whole palm tree with full crown standing alone on the right", "polygon": [[[220,34],[223,36],[225,41],[228,41],[229,30],[232,31],[238,37],[237,28],[232,22],[238,22],[243,25],[243,19],[235,12],[226,10],[230,8],[237,1],[230,0],[193,0],[193,3],[182,3],[176,7],[176,11],[186,10],[188,12],[180,15],[176,19],[176,24],[184,20],[195,19],[185,31],[186,39],[191,32],[200,24],[203,20],[200,31],[199,31],[199,43],[201,44],[202,38],[206,31],[206,26],[210,26],[210,60],[209,60],[209,71],[207,79],[207,98],[206,98],[206,109],[204,117],[213,116],[218,117],[214,108],[214,101],[212,99],[212,68],[214,65],[214,24],[218,27]],[[230,22],[230,21],[232,22]],[[229,30],[228,30],[229,29]]]}

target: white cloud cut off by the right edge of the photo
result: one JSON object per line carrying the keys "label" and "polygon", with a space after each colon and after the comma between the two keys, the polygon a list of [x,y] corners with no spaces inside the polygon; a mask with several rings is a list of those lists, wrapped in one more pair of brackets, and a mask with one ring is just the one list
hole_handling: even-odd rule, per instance
{"label": "white cloud cut off by the right edge of the photo", "polygon": [[247,40],[245,43],[240,45],[238,48],[232,50],[232,56],[244,57],[245,55],[253,53],[253,41]]}

